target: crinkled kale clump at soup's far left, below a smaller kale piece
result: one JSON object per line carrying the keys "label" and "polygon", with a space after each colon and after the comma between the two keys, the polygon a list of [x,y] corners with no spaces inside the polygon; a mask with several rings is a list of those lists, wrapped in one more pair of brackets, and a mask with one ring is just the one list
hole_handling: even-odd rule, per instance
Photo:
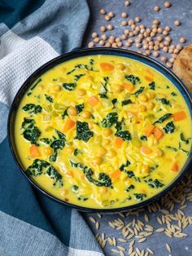
{"label": "crinkled kale clump at soup's far left, below a smaller kale piece", "polygon": [[33,119],[28,119],[24,117],[24,121],[22,123],[21,128],[24,129],[23,136],[24,139],[27,139],[32,144],[37,144],[37,139],[41,135],[41,131],[35,125],[35,121]]}

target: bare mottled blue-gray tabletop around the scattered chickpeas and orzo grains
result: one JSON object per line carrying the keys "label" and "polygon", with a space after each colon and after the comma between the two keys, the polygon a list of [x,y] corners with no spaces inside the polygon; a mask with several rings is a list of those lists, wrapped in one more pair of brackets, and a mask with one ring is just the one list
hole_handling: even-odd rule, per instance
{"label": "bare mottled blue-gray tabletop around the scattered chickpeas and orzo grains", "polygon": [[[163,6],[164,1],[162,0],[135,0],[131,1],[131,5],[129,7],[124,7],[123,0],[88,0],[89,8],[91,11],[91,17],[89,20],[89,27],[85,33],[83,46],[87,46],[88,42],[92,41],[91,33],[98,32],[99,35],[102,35],[102,33],[99,30],[101,25],[113,24],[115,29],[112,31],[107,31],[106,34],[108,36],[114,34],[115,36],[120,37],[124,29],[126,29],[126,27],[120,26],[120,21],[123,20],[121,18],[121,13],[123,11],[128,12],[128,19],[133,19],[137,15],[141,16],[142,22],[140,24],[145,24],[146,26],[150,26],[152,20],[154,19],[160,20],[163,28],[166,25],[170,26],[172,28],[172,31],[169,36],[172,38],[172,42],[174,44],[177,44],[179,38],[181,37],[187,39],[185,45],[192,43],[192,1],[170,0],[170,2],[172,3],[172,7],[166,9]],[[155,5],[161,7],[161,10],[159,12],[153,11],[153,7]],[[113,18],[111,21],[107,22],[106,20],[104,20],[104,16],[99,14],[101,8],[104,8],[106,11],[113,11],[116,17]],[[174,20],[176,19],[181,20],[181,26],[174,26]],[[135,46],[132,46],[131,50],[137,51],[140,49],[137,49]],[[170,55],[168,55],[168,57],[170,57]],[[183,211],[185,212],[186,215],[192,215],[192,202],[188,201],[187,207]],[[147,214],[149,214],[151,218],[150,224],[152,224],[156,228],[161,227],[161,225],[157,223],[156,218],[159,215],[161,216],[162,213],[157,211],[156,213],[152,214],[147,212]],[[90,214],[86,214],[85,218],[88,218],[88,216],[90,216]],[[95,229],[95,224],[90,223],[90,227],[92,228],[94,234],[102,234],[102,232],[104,232],[106,234],[106,237],[115,236],[116,238],[122,238],[121,231],[116,231],[116,229],[113,229],[108,225],[108,221],[114,220],[115,218],[121,218],[118,214],[103,215],[103,218],[101,219],[99,219],[96,214],[91,214],[91,216],[94,216],[94,218],[96,218],[100,223],[98,231]],[[124,218],[124,222],[129,223],[131,220],[133,220],[133,218],[135,218],[135,216],[128,216]],[[139,219],[143,220],[143,214],[139,214]],[[149,236],[144,243],[138,244],[136,242],[136,246],[140,249],[146,249],[146,247],[151,247],[155,251],[155,255],[164,256],[168,255],[168,250],[165,248],[165,243],[168,243],[172,247],[172,256],[181,256],[182,254],[185,254],[185,256],[191,256],[191,225],[190,227],[187,227],[184,232],[190,234],[190,236],[188,236],[185,239],[171,239],[168,236],[165,236],[163,233],[154,232],[154,234],[152,236]],[[118,245],[123,245],[127,249],[129,244],[124,245],[118,242]],[[106,255],[114,255],[111,253],[111,248],[114,247],[107,244],[107,246],[104,249]],[[125,254],[128,255],[127,250]]]}

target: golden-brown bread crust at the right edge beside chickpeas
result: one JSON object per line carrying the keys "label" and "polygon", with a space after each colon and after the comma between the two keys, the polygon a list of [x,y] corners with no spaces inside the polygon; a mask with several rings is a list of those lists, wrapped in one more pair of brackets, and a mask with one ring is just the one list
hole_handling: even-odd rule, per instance
{"label": "golden-brown bread crust at the right edge beside chickpeas", "polygon": [[177,56],[172,71],[192,91],[192,44],[186,46]]}

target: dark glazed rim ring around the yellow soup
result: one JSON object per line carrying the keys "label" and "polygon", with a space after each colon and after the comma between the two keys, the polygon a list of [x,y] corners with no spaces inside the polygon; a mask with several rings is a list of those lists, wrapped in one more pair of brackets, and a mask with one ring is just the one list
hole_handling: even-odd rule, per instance
{"label": "dark glazed rim ring around the yellow soup", "polygon": [[[185,95],[187,96],[187,98],[188,98],[188,100],[190,102],[190,105],[192,106],[192,95],[190,94],[190,90],[188,90],[188,88],[181,81],[181,79],[179,77],[177,77],[176,74],[172,73],[171,70],[169,70],[167,67],[165,67],[164,64],[159,63],[157,60],[154,60],[154,59],[152,59],[149,56],[142,55],[142,54],[137,53],[135,51],[129,51],[129,50],[125,50],[125,49],[111,48],[111,47],[75,48],[75,49],[73,49],[70,52],[67,52],[67,53],[65,53],[63,55],[59,55],[56,58],[46,62],[46,64],[41,65],[41,67],[37,68],[37,70],[35,72],[33,72],[26,79],[26,81],[23,83],[23,85],[20,86],[20,89],[17,91],[17,93],[16,93],[16,95],[15,95],[13,101],[12,101],[11,108],[10,108],[10,111],[9,111],[9,115],[8,115],[8,119],[7,119],[7,137],[8,137],[9,147],[11,148],[11,154],[12,154],[12,157],[14,158],[14,160],[15,160],[16,166],[19,167],[21,173],[24,174],[25,178],[27,178],[28,181],[33,185],[33,187],[36,188],[38,191],[40,191],[41,193],[46,195],[51,200],[59,202],[62,205],[68,205],[68,206],[70,206],[70,207],[72,207],[73,209],[76,209],[76,210],[81,210],[83,212],[90,212],[90,213],[104,213],[104,214],[105,213],[106,214],[107,213],[108,214],[111,213],[112,214],[112,213],[116,213],[116,212],[123,212],[123,211],[127,211],[127,210],[134,210],[134,209],[141,208],[143,206],[149,205],[153,201],[156,201],[157,199],[159,199],[160,196],[163,196],[166,192],[170,191],[179,182],[179,180],[181,180],[181,178],[184,176],[184,174],[186,174],[187,170],[189,169],[190,164],[192,163],[192,157],[191,157],[191,155],[192,155],[192,148],[190,148],[189,157],[187,158],[187,161],[185,161],[185,166],[183,166],[183,168],[181,170],[181,173],[177,175],[176,179],[172,180],[172,183],[169,183],[167,187],[165,187],[162,191],[157,193],[155,196],[152,196],[152,197],[146,199],[145,201],[138,202],[137,204],[134,204],[134,205],[127,205],[127,206],[123,206],[123,207],[104,208],[104,209],[102,209],[102,208],[91,208],[91,207],[89,208],[89,207],[84,207],[84,206],[81,206],[81,205],[74,205],[74,204],[72,204],[70,202],[63,201],[63,200],[57,198],[56,196],[53,196],[50,192],[47,192],[46,189],[42,188],[40,185],[35,183],[35,181],[26,174],[24,168],[21,166],[20,161],[18,160],[18,157],[16,157],[15,149],[14,149],[14,146],[13,146],[14,142],[11,139],[12,138],[11,137],[12,136],[11,132],[13,131],[13,128],[11,128],[11,117],[12,117],[12,115],[15,116],[15,108],[17,108],[19,106],[19,105],[17,105],[17,107],[15,107],[15,104],[17,103],[18,96],[20,96],[20,94],[22,92],[25,93],[26,90],[28,90],[28,88],[33,84],[33,82],[36,81],[37,78],[41,76],[41,74],[46,73],[46,71],[48,71],[50,68],[53,68],[54,66],[56,66],[58,64],[61,64],[62,62],[65,62],[65,61],[68,61],[68,60],[72,60],[72,59],[76,59],[78,57],[81,57],[81,56],[78,56],[79,53],[87,53],[88,52],[89,54],[87,54],[87,55],[89,56],[89,55],[93,55],[91,53],[93,53],[95,51],[101,51],[101,52],[96,53],[94,55],[97,55],[97,54],[98,55],[102,55],[102,54],[104,54],[104,52],[107,52],[107,51],[109,53],[105,54],[105,55],[110,55],[110,51],[116,53],[114,55],[118,55],[118,53],[120,53],[120,52],[123,53],[123,54],[135,55],[139,59],[137,61],[141,61],[142,63],[145,64],[145,62],[143,62],[142,60],[147,60],[148,63],[155,64],[155,66],[156,66],[155,70],[157,70],[159,73],[161,73],[161,72],[158,70],[158,67],[160,67],[161,69],[164,69],[164,71],[166,73],[168,73],[170,75],[170,77],[173,77],[173,79],[177,82],[177,84],[179,86],[181,86],[181,89],[185,91]],[[102,51],[103,51],[103,53],[102,53]],[[77,56],[72,58],[72,55],[77,55]],[[68,60],[64,60],[68,56],[69,56],[69,59]],[[126,56],[124,56],[124,57],[126,58]],[[127,58],[130,58],[130,56],[127,56]],[[60,60],[63,60],[63,61],[60,61]],[[151,67],[151,68],[154,68],[154,67]],[[22,98],[23,98],[23,96],[19,99],[19,102],[20,102],[20,100]],[[183,97],[183,98],[185,99],[185,97]],[[186,102],[186,99],[185,99],[185,102]],[[186,104],[187,104],[187,102],[186,102]],[[187,104],[187,106],[189,108],[189,104]],[[192,113],[190,111],[190,116],[191,116],[191,114]],[[15,121],[15,119],[14,119],[14,121]]]}

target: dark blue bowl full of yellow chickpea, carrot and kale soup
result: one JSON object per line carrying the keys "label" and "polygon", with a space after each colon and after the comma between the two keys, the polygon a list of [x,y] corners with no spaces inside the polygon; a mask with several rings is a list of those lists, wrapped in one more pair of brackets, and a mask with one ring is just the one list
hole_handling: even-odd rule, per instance
{"label": "dark blue bowl full of yellow chickpea, carrot and kale soup", "polygon": [[11,105],[20,170],[46,196],[115,212],[156,200],[191,161],[191,95],[157,61],[112,48],[72,51],[39,68]]}

